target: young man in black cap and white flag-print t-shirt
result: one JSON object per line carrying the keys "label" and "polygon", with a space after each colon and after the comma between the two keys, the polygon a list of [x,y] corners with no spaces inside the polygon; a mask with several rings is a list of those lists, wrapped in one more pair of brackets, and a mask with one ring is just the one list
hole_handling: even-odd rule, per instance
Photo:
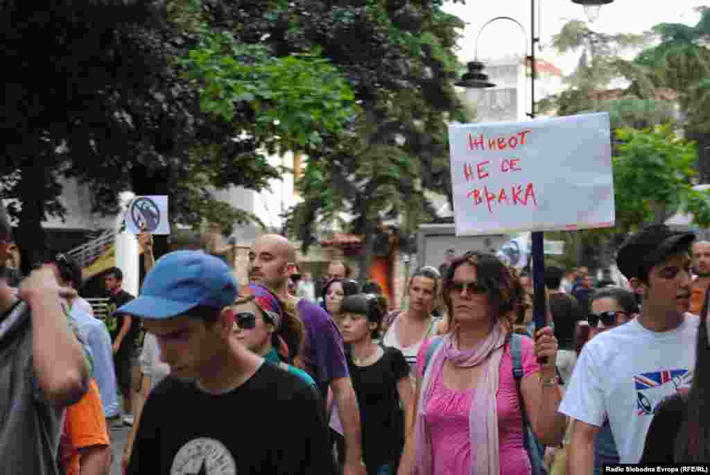
{"label": "young man in black cap and white flag-print t-shirt", "polygon": [[621,246],[617,266],[643,295],[643,311],[581,351],[559,412],[572,417],[569,474],[590,474],[594,439],[608,418],[622,464],[638,463],[655,409],[687,391],[697,317],[690,304],[690,233],[649,226]]}

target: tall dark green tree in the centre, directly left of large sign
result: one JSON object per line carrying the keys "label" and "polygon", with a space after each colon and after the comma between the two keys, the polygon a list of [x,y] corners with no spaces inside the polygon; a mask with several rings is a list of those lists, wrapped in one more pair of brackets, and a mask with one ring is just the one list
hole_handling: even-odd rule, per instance
{"label": "tall dark green tree in the centre, directly left of large sign", "polygon": [[451,200],[447,120],[465,121],[452,86],[456,28],[463,23],[441,11],[440,2],[353,3],[315,3],[317,14],[304,22],[303,38],[320,43],[343,68],[362,112],[345,140],[309,153],[298,184],[305,201],[291,210],[288,224],[305,251],[320,223],[349,214],[344,224],[364,236],[359,279],[365,280],[384,219],[403,217],[403,233],[411,234],[434,215],[425,190]]}

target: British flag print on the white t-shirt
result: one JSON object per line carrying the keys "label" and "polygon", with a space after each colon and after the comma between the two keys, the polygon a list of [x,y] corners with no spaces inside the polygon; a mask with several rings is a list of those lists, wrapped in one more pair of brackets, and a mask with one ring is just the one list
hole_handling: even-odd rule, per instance
{"label": "British flag print on the white t-shirt", "polygon": [[637,414],[655,414],[663,400],[688,391],[692,381],[693,373],[687,369],[654,371],[634,376]]}

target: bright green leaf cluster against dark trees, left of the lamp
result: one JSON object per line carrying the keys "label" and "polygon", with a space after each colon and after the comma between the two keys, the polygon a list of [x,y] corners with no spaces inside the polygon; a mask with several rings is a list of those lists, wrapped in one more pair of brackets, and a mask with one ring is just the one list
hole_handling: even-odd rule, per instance
{"label": "bright green leaf cluster against dark trees, left of the lamp", "polygon": [[[354,92],[320,48],[277,58],[267,45],[239,43],[229,31],[198,29],[199,45],[179,64],[202,111],[235,122],[235,131],[283,151],[314,149],[321,133],[339,135],[356,114]],[[245,121],[235,121],[239,103],[250,109]]]}

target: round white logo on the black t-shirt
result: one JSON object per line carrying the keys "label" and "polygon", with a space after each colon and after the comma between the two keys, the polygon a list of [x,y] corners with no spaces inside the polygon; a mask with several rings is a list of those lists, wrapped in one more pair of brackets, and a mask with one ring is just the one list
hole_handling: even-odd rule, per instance
{"label": "round white logo on the black t-shirt", "polygon": [[202,437],[180,448],[170,475],[236,475],[236,464],[222,442]]}

